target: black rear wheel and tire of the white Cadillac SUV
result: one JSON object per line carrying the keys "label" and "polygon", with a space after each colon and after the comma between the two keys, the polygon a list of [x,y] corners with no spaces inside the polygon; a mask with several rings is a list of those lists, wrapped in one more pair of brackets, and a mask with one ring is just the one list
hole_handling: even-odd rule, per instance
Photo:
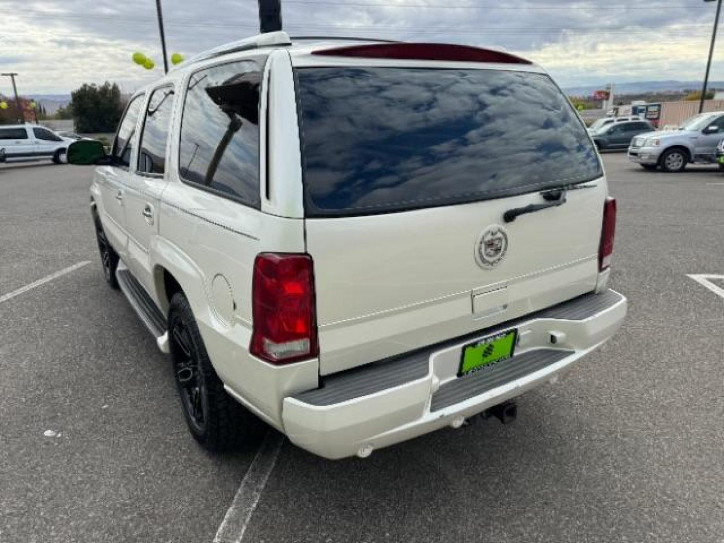
{"label": "black rear wheel and tire of the white Cadillac SUV", "polygon": [[193,438],[211,452],[258,441],[263,424],[224,390],[182,292],[174,294],[169,306],[169,349],[181,408]]}

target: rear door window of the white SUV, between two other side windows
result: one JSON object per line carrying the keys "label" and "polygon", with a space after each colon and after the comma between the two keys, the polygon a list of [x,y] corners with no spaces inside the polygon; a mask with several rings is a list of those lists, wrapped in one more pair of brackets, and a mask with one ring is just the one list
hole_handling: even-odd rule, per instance
{"label": "rear door window of the white SUV, between two other side windows", "polygon": [[138,172],[163,174],[166,167],[166,142],[171,128],[174,90],[157,88],[151,94],[146,119],[140,133]]}

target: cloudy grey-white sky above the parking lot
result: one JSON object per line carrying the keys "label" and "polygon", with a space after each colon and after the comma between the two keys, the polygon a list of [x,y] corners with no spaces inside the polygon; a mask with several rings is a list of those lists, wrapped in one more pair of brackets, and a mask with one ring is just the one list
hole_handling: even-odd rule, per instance
{"label": "cloudy grey-white sky above the parking lot", "polygon": [[[169,54],[253,35],[257,0],[163,0]],[[163,73],[153,0],[2,0],[0,72],[20,93],[116,81],[130,92]],[[703,0],[282,0],[291,35],[359,35],[502,46],[563,86],[700,80],[715,2]],[[724,40],[724,35],[722,36]],[[156,61],[150,72],[133,51]],[[719,52],[721,51],[721,52]],[[724,43],[712,79],[724,79]],[[9,94],[9,78],[0,93]]]}

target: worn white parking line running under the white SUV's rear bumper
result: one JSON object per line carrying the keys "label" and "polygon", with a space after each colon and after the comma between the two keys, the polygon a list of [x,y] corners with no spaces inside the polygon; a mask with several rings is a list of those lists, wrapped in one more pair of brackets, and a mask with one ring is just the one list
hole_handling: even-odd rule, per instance
{"label": "worn white parking line running under the white SUV's rear bumper", "polygon": [[264,492],[266,481],[277,463],[284,437],[273,430],[266,434],[251,466],[242,479],[231,507],[216,531],[213,543],[240,543]]}

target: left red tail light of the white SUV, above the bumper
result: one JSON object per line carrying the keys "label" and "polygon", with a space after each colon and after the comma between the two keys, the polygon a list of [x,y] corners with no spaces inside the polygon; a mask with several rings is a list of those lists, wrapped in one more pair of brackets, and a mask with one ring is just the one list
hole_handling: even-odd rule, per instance
{"label": "left red tail light of the white SUV, above the bumper", "polygon": [[258,255],[252,297],[251,354],[273,364],[319,355],[311,256]]}

